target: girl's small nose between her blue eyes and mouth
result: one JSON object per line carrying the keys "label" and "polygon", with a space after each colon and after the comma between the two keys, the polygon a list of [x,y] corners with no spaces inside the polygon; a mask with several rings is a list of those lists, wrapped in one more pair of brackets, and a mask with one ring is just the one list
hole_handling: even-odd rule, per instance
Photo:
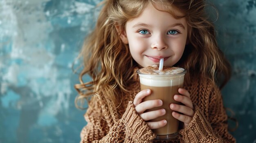
{"label": "girl's small nose between her blue eyes and mouth", "polygon": [[164,36],[157,35],[152,39],[153,43],[151,44],[151,48],[155,48],[157,50],[162,50],[168,48],[168,44],[166,43],[166,39]]}

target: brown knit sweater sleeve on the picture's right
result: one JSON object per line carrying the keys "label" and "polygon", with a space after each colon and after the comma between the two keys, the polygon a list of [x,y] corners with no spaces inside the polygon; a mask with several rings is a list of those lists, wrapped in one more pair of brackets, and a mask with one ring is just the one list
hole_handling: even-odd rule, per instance
{"label": "brown knit sweater sleeve on the picture's right", "polygon": [[208,104],[209,117],[205,117],[199,106],[193,105],[194,117],[185,129],[180,130],[181,140],[185,143],[236,143],[228,132],[227,114],[218,88],[210,92]]}

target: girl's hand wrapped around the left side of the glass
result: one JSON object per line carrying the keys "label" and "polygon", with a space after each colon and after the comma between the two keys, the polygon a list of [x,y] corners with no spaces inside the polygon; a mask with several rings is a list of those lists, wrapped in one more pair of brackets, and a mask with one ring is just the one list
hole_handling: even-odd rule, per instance
{"label": "girl's hand wrapped around the left side of the glass", "polygon": [[141,119],[146,121],[146,124],[148,125],[148,127],[150,129],[161,128],[164,125],[166,125],[166,123],[167,123],[166,120],[161,120],[161,121],[157,121],[157,122],[147,122],[148,120],[152,120],[157,117],[163,116],[166,113],[166,111],[164,109],[145,112],[148,109],[152,109],[152,108],[159,107],[159,106],[163,105],[163,101],[159,100],[159,99],[148,100],[148,101],[142,102],[142,99],[150,94],[151,94],[150,89],[141,90],[135,96],[133,104],[135,106],[135,110],[136,110],[137,114],[139,115],[139,117],[141,117]]}

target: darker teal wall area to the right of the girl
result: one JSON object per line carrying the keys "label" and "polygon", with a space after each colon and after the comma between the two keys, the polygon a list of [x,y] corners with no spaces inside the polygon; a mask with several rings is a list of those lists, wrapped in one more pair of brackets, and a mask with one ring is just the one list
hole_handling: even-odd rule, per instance
{"label": "darker teal wall area to the right of the girl", "polygon": [[256,143],[256,0],[214,0],[214,4],[219,11],[219,46],[233,70],[222,91],[225,106],[239,122],[232,134],[238,143]]}

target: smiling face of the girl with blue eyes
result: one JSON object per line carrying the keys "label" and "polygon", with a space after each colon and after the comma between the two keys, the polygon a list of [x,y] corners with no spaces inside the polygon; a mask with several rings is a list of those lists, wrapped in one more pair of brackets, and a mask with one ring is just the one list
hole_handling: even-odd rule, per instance
{"label": "smiling face of the girl with blue eyes", "polygon": [[[176,11],[176,14],[182,15]],[[188,26],[185,18],[175,19],[170,13],[148,4],[141,15],[128,20],[121,40],[129,45],[132,58],[140,67],[176,64],[184,52]]]}

